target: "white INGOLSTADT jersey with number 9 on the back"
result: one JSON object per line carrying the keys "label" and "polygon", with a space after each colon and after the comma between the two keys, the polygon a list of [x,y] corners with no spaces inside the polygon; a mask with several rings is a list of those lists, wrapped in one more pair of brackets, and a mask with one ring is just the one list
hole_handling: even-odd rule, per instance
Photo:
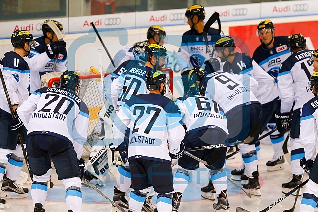
{"label": "white INGOLSTADT jersey with number 9 on the back", "polygon": [[258,102],[251,87],[243,85],[235,75],[226,72],[211,73],[205,78],[206,84],[203,81],[200,83],[205,84],[206,97],[216,101],[225,114],[236,106]]}

